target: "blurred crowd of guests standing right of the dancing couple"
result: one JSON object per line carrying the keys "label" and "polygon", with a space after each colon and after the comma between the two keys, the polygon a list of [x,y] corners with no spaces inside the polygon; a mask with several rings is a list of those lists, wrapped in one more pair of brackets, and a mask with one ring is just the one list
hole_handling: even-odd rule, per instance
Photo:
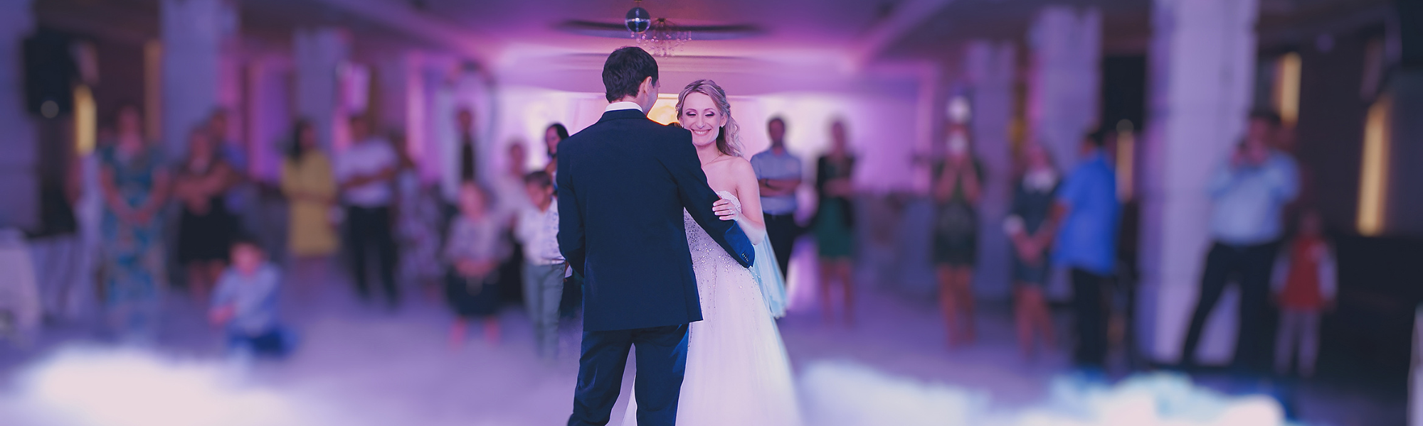
{"label": "blurred crowd of guests standing right of the dancing couple", "polygon": [[[1101,129],[1083,135],[1079,160],[1063,165],[1043,141],[1015,143],[1010,207],[999,223],[982,223],[986,170],[973,149],[972,129],[946,125],[932,155],[916,163],[929,168],[926,195],[875,195],[857,192],[855,155],[844,122],[831,125],[831,143],[815,160],[814,214],[797,222],[795,190],[807,176],[801,160],[785,149],[785,121],[767,124],[771,145],[751,158],[761,182],[761,197],[771,244],[781,264],[791,258],[800,234],[817,246],[817,300],[825,322],[854,322],[854,266],[869,263],[875,239],[909,222],[904,206],[914,199],[933,204],[932,219],[914,231],[928,233],[928,258],[938,283],[938,302],[951,348],[976,339],[975,280],[980,267],[980,233],[1002,226],[1010,247],[1012,311],[1022,356],[1032,359],[1043,348],[1054,349],[1059,329],[1070,329],[1074,364],[1103,372],[1110,354],[1123,352],[1130,368],[1140,368],[1136,342],[1137,217],[1136,200],[1118,192],[1118,133]],[[1312,206],[1308,170],[1292,155],[1292,131],[1278,114],[1257,111],[1248,132],[1229,158],[1210,175],[1211,200],[1208,253],[1200,271],[1200,294],[1183,342],[1180,365],[1195,371],[1204,325],[1225,288],[1238,285],[1232,371],[1241,375],[1271,372],[1312,376],[1319,351],[1319,318],[1333,305],[1336,268],[1333,244],[1319,212]],[[1120,153],[1130,155],[1130,153]],[[906,165],[915,166],[915,165]],[[1060,166],[1063,169],[1060,169]],[[879,207],[879,209],[877,209]],[[898,207],[898,209],[895,209]],[[857,220],[857,216],[872,216]],[[985,226],[986,224],[986,226]],[[894,239],[894,237],[889,237]],[[912,248],[911,248],[912,250]],[[901,253],[904,254],[904,253]],[[1070,297],[1070,327],[1054,324],[1047,287],[1063,277]],[[884,277],[879,277],[884,278]]]}

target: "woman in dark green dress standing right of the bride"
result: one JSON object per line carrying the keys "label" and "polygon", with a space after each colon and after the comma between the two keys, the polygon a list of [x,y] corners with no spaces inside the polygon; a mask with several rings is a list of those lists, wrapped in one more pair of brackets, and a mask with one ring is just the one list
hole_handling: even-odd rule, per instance
{"label": "woman in dark green dress standing right of the bride", "polygon": [[835,121],[830,126],[830,152],[815,160],[815,193],[820,204],[815,209],[815,244],[820,251],[820,301],[825,321],[834,317],[831,281],[840,281],[845,322],[854,322],[855,290],[851,273],[851,257],[855,251],[854,236],[854,169],[855,158],[850,153],[845,124]]}

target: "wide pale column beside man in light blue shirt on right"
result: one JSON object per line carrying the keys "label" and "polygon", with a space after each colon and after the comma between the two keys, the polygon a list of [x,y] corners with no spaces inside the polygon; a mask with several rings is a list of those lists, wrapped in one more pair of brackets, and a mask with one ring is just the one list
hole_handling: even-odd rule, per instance
{"label": "wide pale column beside man in light blue shirt on right", "polygon": [[[1138,318],[1146,354],[1175,362],[1210,244],[1208,176],[1244,135],[1255,68],[1255,0],[1155,0],[1141,187]],[[1235,307],[1215,308],[1201,361],[1229,361]]]}

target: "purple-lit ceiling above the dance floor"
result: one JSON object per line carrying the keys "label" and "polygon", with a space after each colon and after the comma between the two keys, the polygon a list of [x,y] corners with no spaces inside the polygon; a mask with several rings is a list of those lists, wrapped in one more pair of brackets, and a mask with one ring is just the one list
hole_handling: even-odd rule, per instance
{"label": "purple-lit ceiling above the dance floor", "polygon": [[[238,0],[235,0],[238,1]],[[1328,30],[1328,23],[1383,9],[1390,0],[1261,0],[1262,43]],[[882,62],[946,62],[970,38],[1023,38],[1049,4],[1099,7],[1104,51],[1141,54],[1153,0],[645,0],[673,23],[750,24],[740,40],[696,40],[680,55],[795,61],[864,68]],[[581,62],[630,40],[561,30],[569,20],[620,23],[630,0],[239,0],[243,36],[283,45],[295,27],[337,26],[356,50],[445,50],[495,65],[565,58]],[[34,0],[41,24],[141,43],[158,37],[159,0]],[[1325,23],[1325,24],[1322,24]],[[1275,37],[1275,36],[1278,37]],[[1298,37],[1305,37],[1299,36]],[[1296,38],[1298,38],[1296,37]]]}

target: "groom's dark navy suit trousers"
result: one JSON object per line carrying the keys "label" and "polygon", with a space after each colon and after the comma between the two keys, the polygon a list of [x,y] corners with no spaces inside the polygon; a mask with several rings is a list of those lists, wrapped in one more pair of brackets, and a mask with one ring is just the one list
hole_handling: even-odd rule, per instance
{"label": "groom's dark navy suit trousers", "polygon": [[578,359],[578,388],[568,426],[608,425],[629,349],[638,349],[639,426],[672,426],[677,422],[677,399],[687,366],[687,325],[615,331],[585,331],[583,354]]}

